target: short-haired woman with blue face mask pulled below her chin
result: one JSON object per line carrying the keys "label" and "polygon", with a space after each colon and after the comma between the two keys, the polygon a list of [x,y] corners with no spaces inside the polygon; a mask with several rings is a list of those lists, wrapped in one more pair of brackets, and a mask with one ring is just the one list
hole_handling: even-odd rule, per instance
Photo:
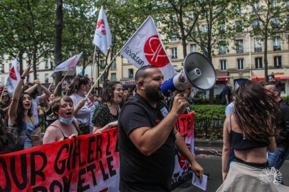
{"label": "short-haired woman with blue face mask pulled below her chin", "polygon": [[70,97],[63,95],[52,102],[52,112],[58,117],[51,123],[43,136],[43,144],[53,143],[81,135],[74,118],[74,104]]}

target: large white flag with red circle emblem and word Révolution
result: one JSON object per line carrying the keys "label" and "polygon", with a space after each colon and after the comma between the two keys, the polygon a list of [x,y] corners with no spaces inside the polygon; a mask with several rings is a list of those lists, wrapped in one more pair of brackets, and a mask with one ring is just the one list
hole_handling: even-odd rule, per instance
{"label": "large white flag with red circle emblem and word R\u00e9volution", "polygon": [[164,49],[164,45],[162,44],[162,40],[151,16],[142,23],[122,47],[120,54],[137,68],[149,64],[159,67],[164,75],[164,80],[168,80],[177,74]]}

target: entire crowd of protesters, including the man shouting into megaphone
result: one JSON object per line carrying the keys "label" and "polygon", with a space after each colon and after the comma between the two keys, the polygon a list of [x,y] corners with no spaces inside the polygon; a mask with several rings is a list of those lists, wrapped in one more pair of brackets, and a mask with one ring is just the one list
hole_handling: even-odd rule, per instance
{"label": "entire crowd of protesters, including the man shouting into megaphone", "polygon": [[[179,133],[169,128],[163,130],[164,128],[158,124],[150,123],[153,118],[164,119],[164,123],[173,123],[181,114],[189,112],[187,106],[191,103],[189,96],[193,88],[182,91],[178,97],[171,100],[171,106],[169,106],[172,111],[176,111],[174,116],[171,115],[173,112],[168,112],[166,113],[169,114],[168,117],[165,115],[159,117],[160,114],[155,112],[155,108],[156,106],[156,109],[160,108],[159,105],[163,104],[164,98],[159,93],[162,74],[155,67],[144,67],[138,71],[136,74],[137,90],[123,88],[120,82],[107,80],[100,95],[87,95],[94,82],[82,73],[78,73],[67,85],[66,93],[63,95],[56,95],[62,82],[57,84],[54,91],[52,91],[52,84],[46,88],[39,80],[24,84],[24,80],[30,73],[32,73],[30,66],[24,69],[13,95],[9,95],[7,91],[1,93],[0,154],[62,141],[81,134],[103,132],[119,126],[120,170],[122,170],[120,189],[127,190],[136,187],[133,180],[125,178],[123,172],[126,147],[129,146],[128,148],[131,149],[131,145],[136,145],[136,147],[133,147],[133,153],[130,156],[136,153],[138,154],[136,159],[144,160],[151,154],[142,151],[143,146],[150,149],[149,147],[156,145],[151,148],[150,153],[154,153],[158,147],[162,147],[164,142],[168,142],[167,144],[171,147],[173,146],[171,141],[176,141],[176,147],[180,148],[184,156],[190,160],[193,165],[192,170],[198,178],[202,179],[204,169],[189,154],[183,141],[178,140]],[[42,89],[43,95],[39,95],[39,88]],[[268,167],[279,169],[289,156],[289,106],[281,99],[280,92],[281,86],[275,80],[265,86],[248,80],[233,91],[233,98],[231,98],[231,84],[226,82],[226,87],[221,94],[222,104],[227,105],[222,155],[224,184],[218,191],[229,191],[229,189],[243,191],[244,188],[238,187],[240,182],[253,182],[253,186],[257,186],[255,188],[257,191],[263,190],[257,184],[257,175],[260,170]],[[132,96],[134,96],[133,99],[130,99]],[[139,105],[136,101],[143,103],[139,110],[134,108],[135,105]],[[148,108],[147,110],[151,108],[148,113],[152,115],[151,117],[141,115],[144,112],[143,107]],[[164,108],[167,109],[167,106]],[[133,115],[136,117],[134,118]],[[170,119],[170,116],[173,116],[174,120]],[[136,127],[136,124],[140,124],[140,128]],[[45,132],[43,138],[41,138],[41,132]],[[125,143],[122,143],[124,140]],[[171,149],[170,157],[174,156],[175,150],[174,147]],[[125,156],[125,158],[131,157]],[[130,159],[131,164],[138,162],[136,159]],[[169,163],[170,170],[173,162]],[[125,171],[130,173],[131,170]],[[149,174],[147,173],[147,176]],[[168,178],[170,178],[169,175],[171,173],[168,174]],[[136,180],[136,182],[146,183],[146,180]],[[162,182],[164,186],[157,186],[158,183],[154,182],[156,189],[170,188],[170,185],[167,185],[167,179]],[[144,185],[138,186],[138,189],[144,189],[143,187]],[[274,191],[275,188],[272,190]]]}

